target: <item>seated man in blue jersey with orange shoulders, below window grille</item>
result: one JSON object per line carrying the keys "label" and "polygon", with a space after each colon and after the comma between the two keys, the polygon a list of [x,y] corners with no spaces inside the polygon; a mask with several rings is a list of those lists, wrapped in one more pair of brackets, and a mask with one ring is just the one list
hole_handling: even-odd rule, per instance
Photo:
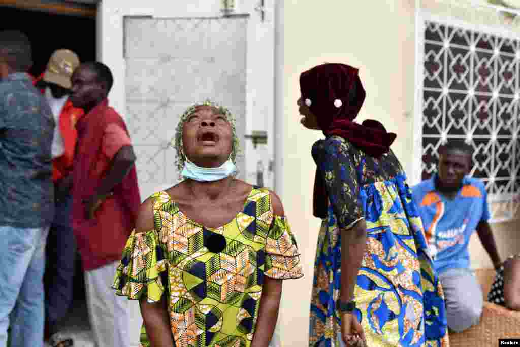
{"label": "seated man in blue jersey with orange shoulders, below window grille", "polygon": [[495,269],[501,265],[488,222],[485,184],[467,176],[472,158],[471,145],[450,139],[439,148],[438,172],[412,189],[446,297],[448,327],[456,332],[478,324],[483,309],[482,288],[471,270],[469,252],[475,232]]}

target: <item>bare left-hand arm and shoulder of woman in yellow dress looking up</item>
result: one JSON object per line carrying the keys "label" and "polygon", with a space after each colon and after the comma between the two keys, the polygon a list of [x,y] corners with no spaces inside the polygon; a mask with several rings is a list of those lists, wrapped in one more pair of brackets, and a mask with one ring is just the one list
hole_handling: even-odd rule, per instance
{"label": "bare left-hand arm and shoulder of woman in yellow dress looking up", "polygon": [[[136,221],[136,233],[153,230],[153,199],[148,198],[139,208]],[[153,347],[173,347],[173,336],[170,327],[167,301],[163,295],[161,301],[150,303],[148,298],[139,300],[142,319],[145,323],[148,340]]]}

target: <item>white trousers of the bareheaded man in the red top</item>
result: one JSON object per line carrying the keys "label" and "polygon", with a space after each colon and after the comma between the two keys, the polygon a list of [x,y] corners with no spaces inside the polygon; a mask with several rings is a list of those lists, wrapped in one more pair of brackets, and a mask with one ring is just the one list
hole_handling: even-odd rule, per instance
{"label": "white trousers of the bareheaded man in the red top", "polygon": [[85,271],[88,316],[96,347],[129,347],[128,300],[111,288],[118,261]]}

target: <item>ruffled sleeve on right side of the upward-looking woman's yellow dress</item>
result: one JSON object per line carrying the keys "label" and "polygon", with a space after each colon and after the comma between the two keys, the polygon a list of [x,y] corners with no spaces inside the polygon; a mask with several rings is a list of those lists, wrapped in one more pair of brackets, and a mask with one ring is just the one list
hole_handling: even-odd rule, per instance
{"label": "ruffled sleeve on right side of the upward-looking woman's yellow dress", "polygon": [[286,217],[274,216],[265,245],[264,274],[270,278],[303,277],[300,252]]}

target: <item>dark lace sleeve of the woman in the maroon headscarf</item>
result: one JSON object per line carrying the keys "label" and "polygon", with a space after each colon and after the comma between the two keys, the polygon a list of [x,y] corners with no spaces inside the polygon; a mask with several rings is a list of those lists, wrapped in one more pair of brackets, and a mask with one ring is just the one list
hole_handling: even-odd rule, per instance
{"label": "dark lace sleeve of the woman in the maroon headscarf", "polygon": [[313,158],[324,180],[332,210],[341,229],[352,229],[364,218],[359,200],[356,160],[350,143],[330,137],[313,145]]}

